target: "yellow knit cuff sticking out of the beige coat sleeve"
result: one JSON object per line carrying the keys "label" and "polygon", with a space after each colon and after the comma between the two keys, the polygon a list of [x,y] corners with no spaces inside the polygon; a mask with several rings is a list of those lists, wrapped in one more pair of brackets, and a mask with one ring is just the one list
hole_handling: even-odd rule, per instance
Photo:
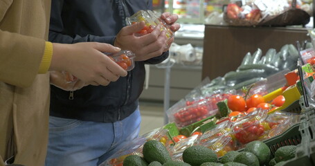
{"label": "yellow knit cuff sticking out of the beige coat sleeve", "polygon": [[51,42],[46,42],[44,56],[39,65],[39,74],[44,74],[48,71],[49,66],[51,66],[51,57],[53,57],[53,44]]}

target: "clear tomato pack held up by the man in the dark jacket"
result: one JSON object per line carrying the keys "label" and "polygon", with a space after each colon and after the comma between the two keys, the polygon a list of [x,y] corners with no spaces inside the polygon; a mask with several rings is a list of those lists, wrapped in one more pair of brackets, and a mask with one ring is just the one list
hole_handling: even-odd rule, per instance
{"label": "clear tomato pack held up by the man in the dark jacket", "polygon": [[161,31],[165,30],[166,37],[168,38],[168,44],[170,44],[170,39],[174,37],[174,32],[170,29],[170,25],[166,24],[161,18],[161,13],[152,10],[139,10],[131,17],[126,18],[128,25],[135,24],[136,22],[145,21],[145,27],[140,30],[137,34],[139,36],[152,33],[156,26],[161,25]]}

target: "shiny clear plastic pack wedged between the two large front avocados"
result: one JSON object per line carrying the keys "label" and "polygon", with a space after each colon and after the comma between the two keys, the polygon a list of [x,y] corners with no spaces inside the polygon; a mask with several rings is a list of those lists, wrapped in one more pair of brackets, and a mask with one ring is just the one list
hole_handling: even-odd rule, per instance
{"label": "shiny clear plastic pack wedged between the two large front avocados", "polygon": [[179,140],[179,142],[176,142],[175,145],[172,146],[169,150],[172,160],[183,160],[182,158],[183,151],[188,147],[192,147],[193,145],[195,145],[198,138],[199,135],[192,135],[183,140]]}

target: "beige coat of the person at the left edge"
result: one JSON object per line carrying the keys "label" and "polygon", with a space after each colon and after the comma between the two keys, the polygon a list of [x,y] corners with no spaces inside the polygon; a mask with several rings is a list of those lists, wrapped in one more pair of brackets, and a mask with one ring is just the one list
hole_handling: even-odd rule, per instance
{"label": "beige coat of the person at the left edge", "polygon": [[48,142],[49,76],[37,75],[50,0],[0,0],[0,165],[42,166]]}

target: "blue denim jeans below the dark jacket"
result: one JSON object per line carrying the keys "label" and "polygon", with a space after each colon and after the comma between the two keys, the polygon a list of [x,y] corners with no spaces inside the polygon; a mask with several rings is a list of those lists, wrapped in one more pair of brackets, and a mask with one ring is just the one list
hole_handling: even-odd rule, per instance
{"label": "blue denim jeans below the dark jacket", "polygon": [[140,130],[139,109],[118,122],[49,118],[46,166],[96,166],[133,140]]}

